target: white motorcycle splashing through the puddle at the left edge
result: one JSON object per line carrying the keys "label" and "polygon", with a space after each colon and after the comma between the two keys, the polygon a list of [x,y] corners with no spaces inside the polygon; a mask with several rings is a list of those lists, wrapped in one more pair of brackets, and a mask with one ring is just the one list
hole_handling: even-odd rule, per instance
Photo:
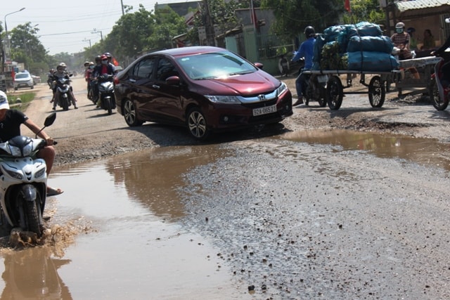
{"label": "white motorcycle splashing through the puddle at the left edge", "polygon": [[[53,124],[55,119],[56,112],[53,112],[46,117],[40,131]],[[35,138],[15,136],[0,143],[1,225],[31,231],[38,237],[45,229],[42,214],[47,174],[44,159],[36,158],[36,154],[45,145],[46,141],[37,135]]]}

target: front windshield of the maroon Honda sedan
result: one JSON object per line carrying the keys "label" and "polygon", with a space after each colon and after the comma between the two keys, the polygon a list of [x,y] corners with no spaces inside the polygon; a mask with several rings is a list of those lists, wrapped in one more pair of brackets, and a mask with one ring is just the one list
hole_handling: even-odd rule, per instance
{"label": "front windshield of the maroon Honda sedan", "polygon": [[229,51],[185,56],[178,63],[191,79],[214,79],[248,74],[257,69],[243,58]]}

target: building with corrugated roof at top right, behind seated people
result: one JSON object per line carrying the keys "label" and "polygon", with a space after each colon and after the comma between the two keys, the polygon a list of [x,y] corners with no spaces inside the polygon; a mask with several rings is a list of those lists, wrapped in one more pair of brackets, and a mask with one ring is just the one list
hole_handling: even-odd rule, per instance
{"label": "building with corrugated roof at top right, behind seated people", "polygon": [[436,46],[443,44],[450,35],[450,25],[445,22],[445,18],[450,17],[450,0],[392,1],[389,4],[380,0],[380,5],[386,12],[387,36],[394,34],[397,22],[404,22],[406,28],[416,30],[414,37],[418,48],[423,45],[425,30],[432,32]]}

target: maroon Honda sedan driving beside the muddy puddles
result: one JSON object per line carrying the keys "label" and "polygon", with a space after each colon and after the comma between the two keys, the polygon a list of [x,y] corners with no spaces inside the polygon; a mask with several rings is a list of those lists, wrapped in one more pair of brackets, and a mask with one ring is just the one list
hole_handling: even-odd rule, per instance
{"label": "maroon Honda sedan driving beside the muddy puddles", "polygon": [[186,126],[198,140],[212,132],[281,122],[293,115],[292,95],[261,68],[210,46],[149,53],[117,74],[117,111],[129,126]]}

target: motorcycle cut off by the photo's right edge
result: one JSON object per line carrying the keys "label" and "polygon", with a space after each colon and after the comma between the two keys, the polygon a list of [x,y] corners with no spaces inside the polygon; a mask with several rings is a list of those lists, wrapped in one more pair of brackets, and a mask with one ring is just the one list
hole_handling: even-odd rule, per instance
{"label": "motorcycle cut off by the photo's right edge", "polygon": [[449,105],[450,85],[448,82],[446,83],[447,86],[442,85],[442,66],[450,62],[450,51],[447,49],[440,58],[441,60],[435,65],[435,72],[431,75],[428,91],[433,106],[437,110],[445,110]]}

